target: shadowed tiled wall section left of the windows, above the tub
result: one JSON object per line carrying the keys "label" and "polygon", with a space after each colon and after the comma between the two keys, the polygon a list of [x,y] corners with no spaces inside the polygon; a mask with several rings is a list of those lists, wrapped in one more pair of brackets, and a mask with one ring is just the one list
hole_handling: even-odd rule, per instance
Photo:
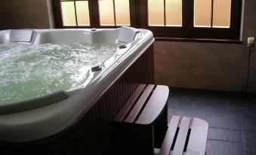
{"label": "shadowed tiled wall section left of the windows, above the tub", "polygon": [[50,28],[47,0],[1,0],[0,29]]}

